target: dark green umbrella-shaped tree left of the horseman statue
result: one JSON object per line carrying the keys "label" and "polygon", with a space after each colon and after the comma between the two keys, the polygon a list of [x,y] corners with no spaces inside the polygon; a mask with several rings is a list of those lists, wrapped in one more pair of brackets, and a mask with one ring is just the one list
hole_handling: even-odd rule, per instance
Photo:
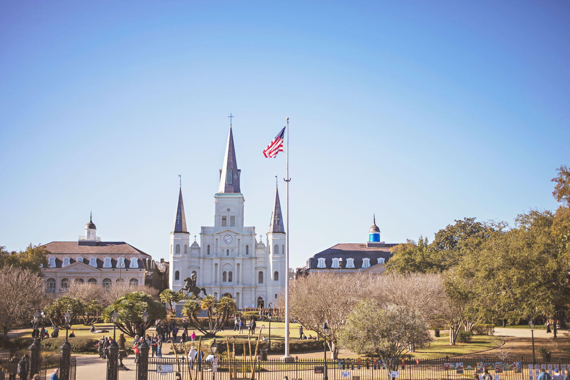
{"label": "dark green umbrella-shaped tree left of the horseman statue", "polygon": [[137,334],[137,326],[143,324],[143,313],[149,314],[145,329],[153,325],[154,321],[166,318],[166,308],[159,301],[154,301],[152,296],[144,292],[131,292],[116,299],[111,305],[103,310],[105,322],[111,322],[111,314],[117,310],[119,322],[117,328],[130,337]]}

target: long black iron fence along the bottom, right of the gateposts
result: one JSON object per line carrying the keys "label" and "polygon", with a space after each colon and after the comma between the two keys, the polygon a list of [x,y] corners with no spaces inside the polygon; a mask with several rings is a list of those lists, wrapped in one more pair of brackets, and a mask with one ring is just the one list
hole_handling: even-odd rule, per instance
{"label": "long black iron fence along the bottom, right of the gateposts", "polygon": [[327,360],[297,359],[291,363],[275,360],[228,361],[218,357],[212,361],[188,361],[184,357],[149,358],[149,380],[323,380],[325,372],[329,380],[465,380],[474,374],[488,371],[494,380],[536,380],[540,369],[549,373],[570,370],[570,358],[554,357],[549,362],[532,358],[454,357],[443,359],[405,359],[382,361],[378,358],[354,358]]}

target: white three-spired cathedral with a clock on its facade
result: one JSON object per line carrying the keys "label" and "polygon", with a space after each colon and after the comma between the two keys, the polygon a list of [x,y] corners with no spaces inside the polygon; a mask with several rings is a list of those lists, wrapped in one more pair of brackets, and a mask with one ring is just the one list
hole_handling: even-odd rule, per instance
{"label": "white three-spired cathedral with a clock on its facade", "polygon": [[[227,137],[220,169],[219,189],[214,194],[214,226],[201,227],[200,244],[190,244],[186,229],[182,188],[170,232],[170,289],[184,287],[184,279],[196,275],[197,286],[217,299],[235,300],[238,308],[274,307],[285,286],[285,228],[279,192],[275,190],[266,244],[257,241],[255,227],[243,226],[245,198],[239,187],[241,170],[235,157],[234,137]],[[201,293],[203,297],[203,292]],[[182,303],[176,307],[180,316]]]}

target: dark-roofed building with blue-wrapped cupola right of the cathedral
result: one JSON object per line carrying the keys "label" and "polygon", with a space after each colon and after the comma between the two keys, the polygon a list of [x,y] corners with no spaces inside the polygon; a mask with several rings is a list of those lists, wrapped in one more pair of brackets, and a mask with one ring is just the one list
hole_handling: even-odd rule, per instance
{"label": "dark-roofed building with blue-wrapped cupola right of the cathedral", "polygon": [[339,243],[311,256],[295,276],[306,276],[312,272],[384,273],[386,263],[392,257],[390,248],[397,243],[380,241],[380,228],[376,226],[376,215],[368,229],[368,241],[364,243]]}

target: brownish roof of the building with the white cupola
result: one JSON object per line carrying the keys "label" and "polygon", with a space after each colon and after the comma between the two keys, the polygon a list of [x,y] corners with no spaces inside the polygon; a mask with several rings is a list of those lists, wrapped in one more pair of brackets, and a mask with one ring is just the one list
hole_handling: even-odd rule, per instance
{"label": "brownish roof of the building with the white cupola", "polygon": [[[111,266],[115,268],[117,259],[125,258],[125,267],[131,267],[131,258],[139,260],[139,268],[145,268],[146,259],[150,259],[149,254],[127,244],[125,242],[97,242],[95,240],[80,240],[79,242],[51,242],[46,244],[46,249],[51,253],[46,254],[48,258],[55,258],[55,267],[61,268],[63,258],[70,258],[70,264],[76,262],[75,258],[82,257],[84,264],[89,264],[90,258],[97,258],[97,268],[103,268],[106,257],[111,257]],[[47,269],[47,268],[46,268]]]}

